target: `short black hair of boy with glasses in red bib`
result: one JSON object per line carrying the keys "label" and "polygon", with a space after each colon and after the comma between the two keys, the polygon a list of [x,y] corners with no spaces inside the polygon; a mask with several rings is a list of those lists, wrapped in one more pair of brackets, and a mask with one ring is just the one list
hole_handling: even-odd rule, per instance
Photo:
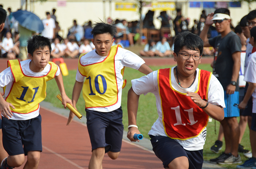
{"label": "short black hair of boy with glasses in red bib", "polygon": [[173,52],[180,52],[184,46],[190,50],[199,50],[200,54],[203,54],[204,41],[196,34],[191,32],[182,32],[175,36]]}

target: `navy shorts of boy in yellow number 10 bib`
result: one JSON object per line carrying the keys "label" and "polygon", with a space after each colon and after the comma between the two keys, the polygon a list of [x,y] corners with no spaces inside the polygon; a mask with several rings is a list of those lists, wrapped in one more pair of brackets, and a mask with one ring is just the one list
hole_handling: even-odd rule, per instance
{"label": "navy shorts of boy in yellow number 10 bib", "polygon": [[124,126],[122,108],[112,112],[85,109],[92,150],[105,147],[106,152],[120,152]]}

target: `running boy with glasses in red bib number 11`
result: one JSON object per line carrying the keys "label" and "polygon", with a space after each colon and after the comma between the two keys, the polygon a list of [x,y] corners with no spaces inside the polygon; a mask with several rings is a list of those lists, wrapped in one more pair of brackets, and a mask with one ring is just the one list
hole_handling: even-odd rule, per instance
{"label": "running boy with glasses in red bib number 11", "polygon": [[127,137],[137,129],[139,97],[156,97],[158,119],[148,132],[155,155],[170,169],[201,169],[209,116],[224,118],[224,91],[211,72],[198,69],[204,43],[198,35],[182,32],[174,40],[177,66],[159,69],[132,80],[128,92]]}

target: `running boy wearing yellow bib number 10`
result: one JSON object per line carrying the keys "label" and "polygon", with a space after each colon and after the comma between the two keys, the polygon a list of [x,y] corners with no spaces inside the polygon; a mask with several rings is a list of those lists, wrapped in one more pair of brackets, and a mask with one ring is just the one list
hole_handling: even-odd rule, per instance
{"label": "running boy wearing yellow bib number 10", "polygon": [[[96,23],[92,32],[95,49],[81,54],[73,89],[72,102],[76,109],[81,90],[85,101],[87,129],[92,144],[89,169],[102,169],[105,153],[116,159],[122,145],[122,74],[124,66],[144,74],[152,70],[143,59],[120,46],[112,46],[116,27]],[[85,80],[84,80],[85,79]],[[70,112],[67,125],[74,114]],[[139,133],[140,134],[140,133]]]}

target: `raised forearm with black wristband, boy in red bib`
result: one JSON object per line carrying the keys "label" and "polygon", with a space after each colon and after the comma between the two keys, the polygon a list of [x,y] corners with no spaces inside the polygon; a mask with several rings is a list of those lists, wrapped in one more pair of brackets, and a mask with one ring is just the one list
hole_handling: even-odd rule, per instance
{"label": "raised forearm with black wristband, boy in red bib", "polygon": [[[204,107],[207,105],[207,102],[203,100],[197,93],[188,92],[186,96],[190,97],[193,102],[199,107]],[[207,115],[212,117],[214,120],[221,121],[224,119],[224,109],[221,106],[217,106],[211,103],[208,103],[208,106],[203,109]]]}

